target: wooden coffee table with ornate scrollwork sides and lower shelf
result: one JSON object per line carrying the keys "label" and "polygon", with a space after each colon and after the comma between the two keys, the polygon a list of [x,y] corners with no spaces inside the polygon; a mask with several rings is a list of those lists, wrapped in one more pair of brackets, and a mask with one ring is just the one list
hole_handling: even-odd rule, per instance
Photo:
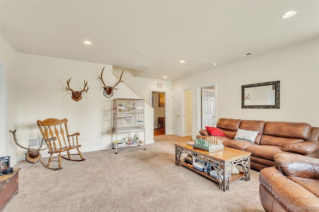
{"label": "wooden coffee table with ornate scrollwork sides and lower shelf", "polygon": [[[218,182],[218,187],[221,190],[228,190],[228,185],[239,179],[245,178],[246,181],[250,180],[250,152],[224,147],[223,150],[209,153],[202,149],[193,148],[193,146],[186,144],[186,142],[174,145],[176,166],[183,165],[215,182]],[[180,159],[180,157],[184,153],[191,155],[192,157],[208,161],[211,164],[212,169],[216,170],[218,179],[210,176],[209,173],[197,170],[183,162],[183,158]],[[231,174],[230,176],[231,170],[235,165],[241,165],[242,171],[239,170],[239,174]]]}

